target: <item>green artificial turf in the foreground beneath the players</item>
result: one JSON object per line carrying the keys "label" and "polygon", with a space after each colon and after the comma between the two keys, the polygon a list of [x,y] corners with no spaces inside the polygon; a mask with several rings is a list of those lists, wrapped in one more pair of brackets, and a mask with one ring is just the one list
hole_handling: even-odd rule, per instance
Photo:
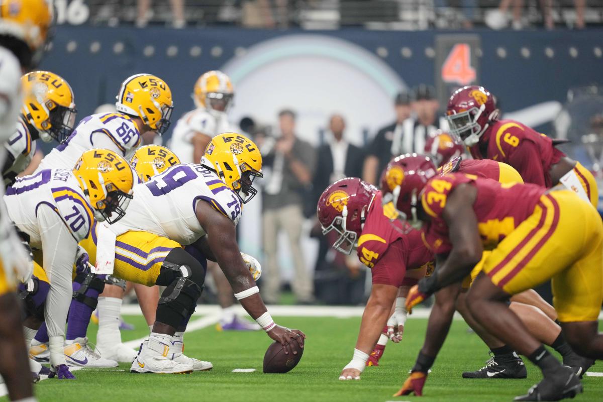
{"label": "green artificial turf in the foreground beneath the players", "polygon": [[[147,332],[140,317],[126,316],[139,328],[124,331],[124,341]],[[443,350],[429,375],[424,396],[393,398],[414,363],[425,334],[426,319],[409,319],[401,344],[389,344],[379,367],[368,367],[362,380],[338,380],[352,357],[359,318],[277,318],[281,325],[306,332],[300,364],[288,374],[262,374],[262,358],[271,340],[262,333],[218,332],[207,327],[186,335],[185,353],[209,360],[209,372],[188,375],[130,374],[129,365],[118,369],[83,369],[77,380],[45,380],[36,385],[40,401],[512,401],[540,380],[537,368],[526,362],[525,380],[466,380],[461,372],[478,369],[488,359],[487,348],[463,321],[455,321]],[[95,332],[95,325],[90,332]],[[93,334],[90,336],[93,341]],[[599,367],[600,366],[600,367]],[[255,368],[253,373],[233,373]],[[592,371],[603,371],[598,363]],[[603,401],[603,377],[584,377],[584,394],[576,402]]]}

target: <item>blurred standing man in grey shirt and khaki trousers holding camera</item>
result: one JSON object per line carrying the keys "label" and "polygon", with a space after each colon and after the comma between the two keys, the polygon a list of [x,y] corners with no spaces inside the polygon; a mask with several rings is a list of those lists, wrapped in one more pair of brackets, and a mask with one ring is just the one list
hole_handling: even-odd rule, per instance
{"label": "blurred standing man in grey shirt and khaki trousers holding camera", "polygon": [[[270,168],[262,196],[262,237],[266,256],[262,293],[267,303],[278,303],[280,297],[280,266],[278,234],[282,229],[289,238],[295,275],[292,289],[298,303],[312,302],[312,282],[301,251],[300,237],[304,222],[304,201],[311,200],[312,177],[316,151],[295,135],[295,113],[279,113],[281,136],[264,158]],[[268,169],[267,169],[268,170]],[[267,175],[268,176],[268,175]]]}

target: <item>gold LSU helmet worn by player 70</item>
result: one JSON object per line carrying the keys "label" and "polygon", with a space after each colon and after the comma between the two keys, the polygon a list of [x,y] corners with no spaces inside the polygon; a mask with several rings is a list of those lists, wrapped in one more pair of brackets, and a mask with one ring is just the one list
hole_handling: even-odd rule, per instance
{"label": "gold LSU helmet worn by player 70", "polygon": [[92,148],[81,154],[73,173],[94,209],[98,222],[119,221],[132,199],[134,174],[128,162],[104,148]]}

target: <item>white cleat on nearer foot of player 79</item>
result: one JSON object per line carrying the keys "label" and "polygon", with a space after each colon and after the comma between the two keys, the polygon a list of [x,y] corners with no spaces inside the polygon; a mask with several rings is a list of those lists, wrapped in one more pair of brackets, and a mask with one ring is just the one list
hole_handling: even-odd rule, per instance
{"label": "white cleat on nearer foot of player 79", "polygon": [[132,362],[130,372],[154,372],[158,374],[188,374],[193,372],[190,364],[169,359],[169,345],[157,341],[140,344],[138,356]]}

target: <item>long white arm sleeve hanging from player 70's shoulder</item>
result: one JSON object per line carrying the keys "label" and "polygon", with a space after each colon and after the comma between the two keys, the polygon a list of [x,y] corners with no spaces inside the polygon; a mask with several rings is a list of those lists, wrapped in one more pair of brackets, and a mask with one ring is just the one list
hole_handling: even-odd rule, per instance
{"label": "long white arm sleeve hanging from player 70's shoulder", "polygon": [[[50,207],[40,206],[37,219],[42,238],[43,268],[50,282],[44,311],[48,336],[50,339],[64,339],[65,322],[72,297],[71,280],[77,242],[58,213]],[[62,348],[58,351],[51,348],[50,354],[52,366],[65,364]]]}

